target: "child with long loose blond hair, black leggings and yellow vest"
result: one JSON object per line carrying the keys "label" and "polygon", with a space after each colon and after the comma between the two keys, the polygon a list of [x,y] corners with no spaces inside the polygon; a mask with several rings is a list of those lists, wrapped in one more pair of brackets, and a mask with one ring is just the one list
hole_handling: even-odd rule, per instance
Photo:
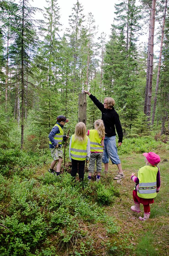
{"label": "child with long loose blond hair, black leggings and yellow vest", "polygon": [[86,136],[86,125],[82,122],[77,123],[75,134],[70,138],[69,157],[71,160],[71,176],[75,177],[79,173],[79,179],[83,181],[85,160],[88,162],[90,157],[90,140]]}

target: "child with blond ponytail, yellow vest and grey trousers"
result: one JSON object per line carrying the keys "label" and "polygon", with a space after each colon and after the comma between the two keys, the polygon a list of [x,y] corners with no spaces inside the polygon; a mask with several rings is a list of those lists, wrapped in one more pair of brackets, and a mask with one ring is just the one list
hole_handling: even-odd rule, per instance
{"label": "child with blond ponytail, yellow vest and grey trousers", "polygon": [[89,135],[90,139],[90,162],[88,168],[88,180],[91,181],[92,173],[94,172],[95,161],[97,176],[96,181],[100,181],[100,174],[102,171],[102,155],[104,150],[104,137],[105,137],[105,127],[103,120],[98,119],[94,122],[95,129],[88,130],[86,135]]}

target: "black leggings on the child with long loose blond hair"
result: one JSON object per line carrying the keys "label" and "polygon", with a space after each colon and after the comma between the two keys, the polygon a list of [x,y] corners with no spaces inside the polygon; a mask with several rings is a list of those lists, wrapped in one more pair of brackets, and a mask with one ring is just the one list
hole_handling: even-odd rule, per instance
{"label": "black leggings on the child with long loose blond hair", "polygon": [[77,172],[79,173],[79,179],[83,181],[85,170],[85,160],[71,159],[71,176],[75,177]]}

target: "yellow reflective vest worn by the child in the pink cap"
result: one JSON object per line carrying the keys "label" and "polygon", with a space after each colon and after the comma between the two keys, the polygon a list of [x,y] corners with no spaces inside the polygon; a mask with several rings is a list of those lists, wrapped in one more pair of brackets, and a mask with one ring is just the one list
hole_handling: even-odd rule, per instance
{"label": "yellow reflective vest worn by the child in the pink cap", "polygon": [[138,171],[138,191],[137,195],[141,198],[155,198],[157,193],[157,172],[158,167],[145,165]]}

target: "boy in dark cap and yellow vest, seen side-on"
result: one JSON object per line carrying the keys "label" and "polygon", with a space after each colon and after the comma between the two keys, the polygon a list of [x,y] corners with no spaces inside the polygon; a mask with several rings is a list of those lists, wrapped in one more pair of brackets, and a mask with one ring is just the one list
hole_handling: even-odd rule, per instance
{"label": "boy in dark cap and yellow vest, seen side-on", "polygon": [[[51,132],[49,133],[49,149],[51,150],[51,155],[53,157],[53,162],[48,170],[52,174],[60,175],[61,164],[63,161],[63,151],[62,151],[62,141],[66,140],[66,135],[63,135],[63,127],[69,122],[64,115],[59,115],[57,117],[56,125],[53,126]],[[57,163],[56,171],[53,170]]]}

